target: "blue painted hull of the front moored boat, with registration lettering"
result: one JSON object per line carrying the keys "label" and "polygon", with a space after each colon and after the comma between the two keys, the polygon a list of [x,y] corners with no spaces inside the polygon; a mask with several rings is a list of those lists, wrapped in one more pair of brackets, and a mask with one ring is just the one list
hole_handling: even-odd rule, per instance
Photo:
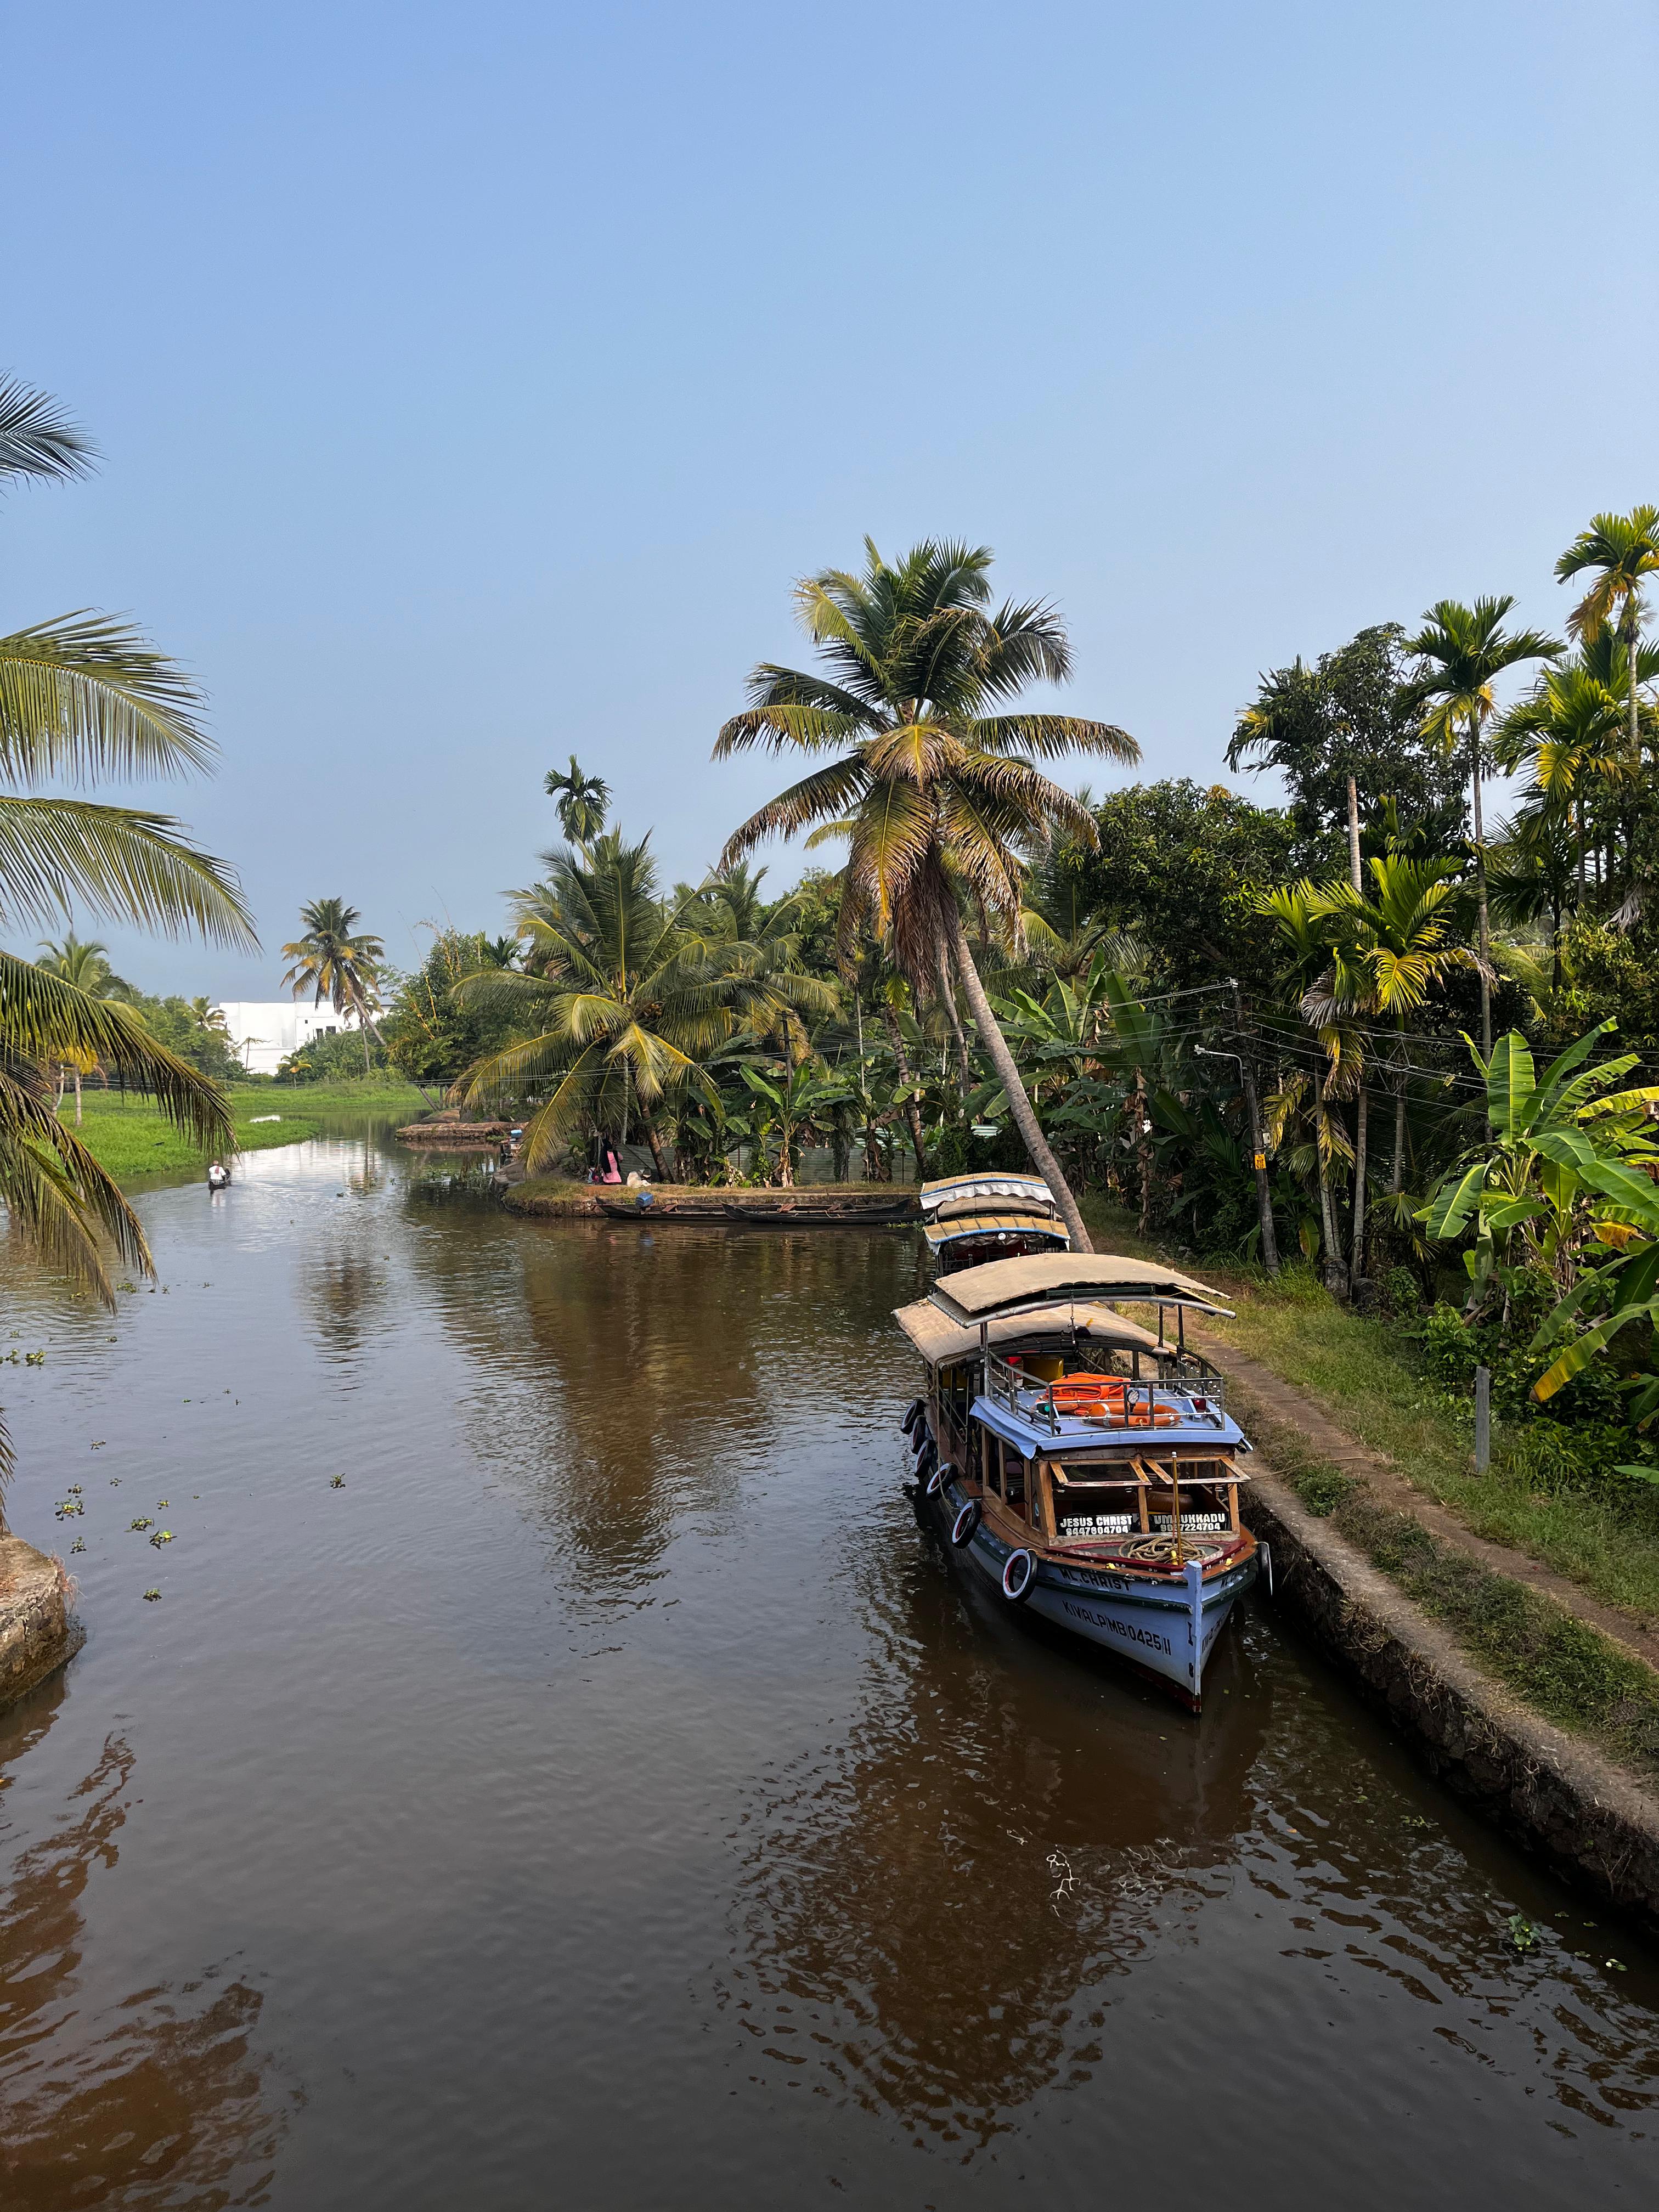
{"label": "blue painted hull of the front moored boat, with registration lettering", "polygon": [[[936,1522],[949,1535],[958,1511],[969,1502],[969,1491],[947,1482],[938,1493]],[[980,1520],[964,1557],[993,1586],[1002,1599],[1002,1568],[1009,1564],[1013,1544]],[[1221,1575],[1203,1577],[1194,1562],[1183,1577],[1117,1575],[1110,1568],[1060,1564],[1037,1559],[1031,1595],[1022,1601],[1029,1613],[1126,1659],[1137,1672],[1150,1674],[1170,1690],[1183,1705],[1199,1712],[1203,1705],[1203,1668],[1214,1650],[1217,1637],[1228,1624],[1228,1615],[1256,1579],[1256,1557],[1241,1559],[1239,1566]]]}

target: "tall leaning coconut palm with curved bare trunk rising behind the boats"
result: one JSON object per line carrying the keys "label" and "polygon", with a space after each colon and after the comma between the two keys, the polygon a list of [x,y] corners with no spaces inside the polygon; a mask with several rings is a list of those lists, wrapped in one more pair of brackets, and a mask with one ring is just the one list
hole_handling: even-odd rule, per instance
{"label": "tall leaning coconut palm with curved bare trunk rising behind the boats", "polygon": [[1084,845],[1097,834],[1091,810],[1037,761],[1095,752],[1133,763],[1139,745],[1115,723],[1013,706],[1029,684],[1071,677],[1071,646],[1042,602],[991,611],[989,566],[989,546],[927,540],[889,564],[865,540],[860,575],[825,568],[796,586],[823,666],[754,668],[750,706],[721,728],[714,757],[759,745],[832,759],[752,814],[723,860],[816,823],[849,823],[843,960],[872,925],[916,987],[940,989],[956,969],[1033,1166],[1073,1245],[1088,1252],[1077,1201],[991,1013],[960,898],[1018,933],[1022,852],[1055,827]]}

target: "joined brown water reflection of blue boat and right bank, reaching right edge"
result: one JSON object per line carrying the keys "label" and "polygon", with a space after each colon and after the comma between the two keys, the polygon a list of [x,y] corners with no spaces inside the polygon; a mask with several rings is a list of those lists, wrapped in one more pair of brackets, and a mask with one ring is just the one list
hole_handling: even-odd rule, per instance
{"label": "joined brown water reflection of blue boat and right bank, reaching right edge", "polygon": [[[761,1776],[734,1827],[717,2002],[752,2079],[810,2079],[978,2154],[1044,2093],[1093,2086],[1161,2126],[1199,2079],[1245,2097],[1252,1991],[1272,1991],[1279,2064],[1321,2066],[1332,2000],[1385,1986],[1464,2062],[1467,2095],[1498,2073],[1597,2128],[1655,2110],[1659,1991],[1641,1962],[1601,1964],[1630,1942],[1544,1893],[1555,1918],[1517,1955],[1506,1920],[1537,1896],[1493,1880],[1409,1767],[1354,1756],[1261,1615],[1194,1728],[929,1551],[887,1566],[858,1590],[878,1688],[843,1741]],[[1146,2044],[1148,1978],[1172,1973],[1186,2020]],[[1371,2124],[1363,2070],[1321,2097],[1332,2143]]]}

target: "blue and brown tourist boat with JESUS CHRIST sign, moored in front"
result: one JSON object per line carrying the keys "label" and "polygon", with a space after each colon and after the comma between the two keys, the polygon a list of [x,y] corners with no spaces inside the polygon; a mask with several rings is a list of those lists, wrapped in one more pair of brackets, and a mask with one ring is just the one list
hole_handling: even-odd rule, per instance
{"label": "blue and brown tourist boat with JESUS CHRIST sign, moored in front", "polygon": [[[1130,1303],[1157,1329],[1115,1310]],[[927,1365],[905,1416],[918,1511],[1009,1606],[1199,1712],[1256,1540],[1239,1517],[1250,1444],[1186,1347],[1190,1310],[1228,1312],[1170,1267],[1053,1252],[942,1276],[896,1321]]]}

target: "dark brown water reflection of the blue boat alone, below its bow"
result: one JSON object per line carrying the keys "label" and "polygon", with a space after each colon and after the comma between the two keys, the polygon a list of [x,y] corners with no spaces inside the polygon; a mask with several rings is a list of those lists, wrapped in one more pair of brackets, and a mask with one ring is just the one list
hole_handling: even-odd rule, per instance
{"label": "dark brown water reflection of the blue boat alone, below its bow", "polygon": [[745,1807],[723,2002],[774,2066],[984,2146],[1093,2075],[1102,1984],[1159,1913],[1225,1891],[1267,1699],[1219,1697],[1186,1728],[894,1553],[887,1579],[856,1577],[880,1694]]}

